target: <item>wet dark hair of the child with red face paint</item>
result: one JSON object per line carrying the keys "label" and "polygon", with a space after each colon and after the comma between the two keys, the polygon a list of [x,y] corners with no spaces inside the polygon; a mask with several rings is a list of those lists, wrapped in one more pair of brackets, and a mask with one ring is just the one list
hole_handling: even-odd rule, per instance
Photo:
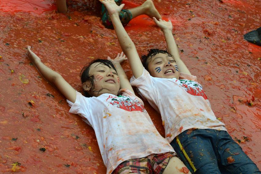
{"label": "wet dark hair of the child with red face paint", "polygon": [[[87,63],[86,65],[84,65],[83,69],[81,70],[81,73],[80,73],[80,78],[81,78],[81,82],[82,84],[84,82],[86,82],[87,80],[90,81],[91,83],[91,90],[94,89],[94,75],[90,75],[89,74],[89,71],[90,71],[90,66],[94,63],[99,63],[99,64],[103,64],[109,68],[113,68],[115,71],[116,71],[116,74],[117,74],[117,70],[113,64],[113,62],[111,60],[106,60],[106,59],[95,59],[93,61],[91,61],[90,63]],[[99,65],[98,64],[98,65]],[[102,89],[100,90],[102,91]],[[90,94],[88,94],[87,91],[84,91],[84,94],[86,97],[92,97],[90,96]]]}

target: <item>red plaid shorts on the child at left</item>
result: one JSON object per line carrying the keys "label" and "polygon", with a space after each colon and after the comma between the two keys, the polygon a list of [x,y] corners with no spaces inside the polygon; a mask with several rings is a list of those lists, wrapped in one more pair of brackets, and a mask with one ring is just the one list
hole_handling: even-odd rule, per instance
{"label": "red plaid shorts on the child at left", "polygon": [[167,167],[170,158],[174,156],[173,154],[173,152],[151,154],[144,158],[126,160],[118,165],[112,174],[161,174]]}

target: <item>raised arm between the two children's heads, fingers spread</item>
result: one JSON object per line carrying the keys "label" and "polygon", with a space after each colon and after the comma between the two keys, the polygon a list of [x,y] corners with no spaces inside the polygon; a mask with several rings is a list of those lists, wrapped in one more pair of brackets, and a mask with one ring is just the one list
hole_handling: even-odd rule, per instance
{"label": "raised arm between the two children's heads, fingers spread", "polygon": [[111,59],[109,56],[108,56],[108,59],[113,62],[113,64],[115,65],[115,68],[117,69],[117,74],[120,78],[120,88],[128,89],[134,93],[132,86],[129,82],[129,79],[121,67],[121,62],[123,62],[124,60],[127,60],[127,57],[125,57],[125,55],[123,55],[123,52],[121,52],[121,54],[118,53],[118,55],[115,59]]}

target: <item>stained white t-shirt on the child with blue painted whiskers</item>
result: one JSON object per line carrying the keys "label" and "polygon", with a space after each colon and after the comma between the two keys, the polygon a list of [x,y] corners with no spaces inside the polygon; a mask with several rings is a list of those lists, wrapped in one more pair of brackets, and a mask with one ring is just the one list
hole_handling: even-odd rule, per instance
{"label": "stained white t-shirt on the child with blue painted whiskers", "polygon": [[169,142],[191,128],[226,131],[225,124],[213,113],[196,76],[180,73],[180,79],[157,78],[144,68],[142,75],[137,79],[132,77],[130,82],[160,112]]}

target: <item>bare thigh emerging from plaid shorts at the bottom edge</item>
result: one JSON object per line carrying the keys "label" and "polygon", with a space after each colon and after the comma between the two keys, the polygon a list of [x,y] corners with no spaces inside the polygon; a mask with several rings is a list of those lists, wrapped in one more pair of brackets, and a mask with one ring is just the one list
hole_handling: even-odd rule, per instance
{"label": "bare thigh emerging from plaid shorts at the bottom edge", "polygon": [[190,173],[189,169],[185,166],[185,164],[178,158],[178,157],[172,157],[169,160],[169,163],[165,170],[163,171],[163,174],[184,174],[184,173]]}

